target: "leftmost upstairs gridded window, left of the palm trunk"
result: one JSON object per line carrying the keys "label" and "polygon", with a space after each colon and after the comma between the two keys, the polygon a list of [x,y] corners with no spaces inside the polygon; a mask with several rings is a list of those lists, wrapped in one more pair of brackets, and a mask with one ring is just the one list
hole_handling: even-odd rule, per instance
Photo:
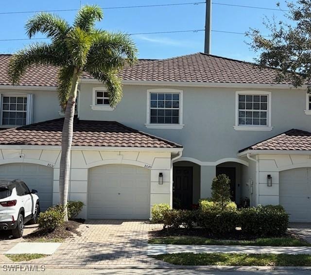
{"label": "leftmost upstairs gridded window, left of the palm trunk", "polygon": [[2,125],[25,125],[27,116],[27,97],[3,96],[1,112]]}

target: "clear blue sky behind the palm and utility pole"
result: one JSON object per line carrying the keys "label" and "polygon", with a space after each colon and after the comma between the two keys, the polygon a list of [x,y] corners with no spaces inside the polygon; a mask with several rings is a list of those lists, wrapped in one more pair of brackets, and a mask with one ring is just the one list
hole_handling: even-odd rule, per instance
{"label": "clear blue sky behind the palm and utility pole", "polygon": [[[204,0],[197,0],[202,2]],[[186,3],[195,0],[81,0],[84,4],[98,4],[101,7],[120,7],[167,3]],[[223,6],[216,3],[276,8],[276,0],[213,0],[212,29],[243,33],[250,27],[268,34],[262,25],[264,16],[283,19],[281,11],[269,11],[242,7]],[[286,8],[285,0],[280,0]],[[11,0],[1,2],[0,12],[23,12],[35,10],[76,9],[80,0]],[[75,11],[57,12],[72,22]],[[0,39],[26,38],[24,25],[33,14],[0,15]],[[205,26],[205,4],[167,7],[127,8],[104,10],[104,20],[98,27],[126,33],[149,33],[179,30],[198,30]],[[38,34],[36,37],[43,37]],[[178,34],[133,35],[140,58],[168,58],[204,51],[204,32]],[[248,38],[239,34],[212,33],[211,53],[234,59],[252,61],[254,52],[245,43]],[[0,53],[13,53],[31,41],[0,41]]]}

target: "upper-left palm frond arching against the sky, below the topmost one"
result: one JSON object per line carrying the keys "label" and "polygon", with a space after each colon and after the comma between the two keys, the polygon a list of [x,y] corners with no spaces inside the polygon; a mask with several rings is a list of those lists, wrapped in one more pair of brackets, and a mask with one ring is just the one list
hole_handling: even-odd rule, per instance
{"label": "upper-left palm frond arching against the sky, below the topmost one", "polygon": [[25,28],[29,38],[40,32],[49,38],[60,39],[70,30],[66,20],[50,13],[36,14],[28,20]]}

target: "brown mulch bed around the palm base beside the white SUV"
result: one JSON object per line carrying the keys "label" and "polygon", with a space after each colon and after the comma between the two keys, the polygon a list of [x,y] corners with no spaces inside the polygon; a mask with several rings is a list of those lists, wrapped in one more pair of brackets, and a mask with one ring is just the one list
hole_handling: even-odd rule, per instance
{"label": "brown mulch bed around the palm base beside the white SUV", "polygon": [[74,221],[65,222],[61,227],[55,229],[52,232],[47,232],[44,230],[36,230],[33,233],[23,237],[27,241],[36,241],[42,239],[49,241],[49,240],[65,240],[69,237],[72,237],[73,234],[81,236],[81,233],[77,230],[81,223],[84,223],[85,220],[83,219],[75,219]]}

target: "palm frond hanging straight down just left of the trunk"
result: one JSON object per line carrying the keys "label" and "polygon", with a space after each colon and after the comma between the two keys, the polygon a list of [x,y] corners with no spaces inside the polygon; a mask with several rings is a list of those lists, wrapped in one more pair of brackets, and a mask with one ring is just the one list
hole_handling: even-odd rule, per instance
{"label": "palm frond hanging straight down just left of the trunk", "polygon": [[69,94],[72,87],[73,73],[73,66],[64,66],[58,72],[59,84],[57,86],[57,97],[59,100],[59,104],[62,106],[62,108],[66,107],[66,103],[69,99]]}

